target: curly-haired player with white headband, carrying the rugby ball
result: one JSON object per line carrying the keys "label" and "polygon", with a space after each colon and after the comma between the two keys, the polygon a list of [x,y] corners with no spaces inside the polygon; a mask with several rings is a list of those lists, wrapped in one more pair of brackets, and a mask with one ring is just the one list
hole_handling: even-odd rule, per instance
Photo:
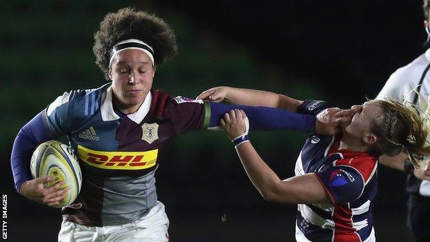
{"label": "curly-haired player with white headband, carrying the rugby ball", "polygon": [[[20,130],[11,157],[15,187],[46,205],[63,198],[61,184],[43,188],[50,177],[30,178],[29,162],[39,143],[66,135],[79,156],[83,185],[62,210],[59,241],[167,241],[169,221],[154,179],[163,145],[218,125],[235,107],[151,90],[156,67],[177,49],[170,27],[152,14],[130,8],[107,14],[94,39],[96,63],[112,82],[65,92]],[[248,112],[251,128],[330,133],[341,121],[323,125],[313,115],[236,108]]]}

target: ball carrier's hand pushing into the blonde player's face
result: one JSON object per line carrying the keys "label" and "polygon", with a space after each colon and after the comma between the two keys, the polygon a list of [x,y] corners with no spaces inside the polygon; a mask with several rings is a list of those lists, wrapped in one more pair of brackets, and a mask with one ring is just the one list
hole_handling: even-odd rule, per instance
{"label": "ball carrier's hand pushing into the blonde player's face", "polygon": [[318,134],[335,135],[342,131],[341,125],[351,123],[351,119],[362,109],[361,105],[354,105],[351,109],[327,108],[316,115],[315,132]]}

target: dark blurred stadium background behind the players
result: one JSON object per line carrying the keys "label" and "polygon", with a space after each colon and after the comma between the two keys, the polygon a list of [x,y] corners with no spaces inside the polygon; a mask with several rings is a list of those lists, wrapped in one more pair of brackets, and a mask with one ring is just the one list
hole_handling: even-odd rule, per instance
{"label": "dark blurred stadium background behind the players", "polygon": [[[105,83],[93,33],[125,6],[154,12],[177,35],[177,57],[154,88],[196,97],[216,85],[324,99],[342,108],[374,98],[389,75],[424,52],[420,0],[393,1],[1,1],[1,193],[8,241],[56,241],[60,210],[14,190],[15,135],[68,90]],[[252,132],[281,178],[294,175],[306,134]],[[157,171],[172,241],[294,241],[296,205],[267,203],[223,132],[176,138]],[[380,166],[374,209],[378,241],[408,241],[405,176]]]}

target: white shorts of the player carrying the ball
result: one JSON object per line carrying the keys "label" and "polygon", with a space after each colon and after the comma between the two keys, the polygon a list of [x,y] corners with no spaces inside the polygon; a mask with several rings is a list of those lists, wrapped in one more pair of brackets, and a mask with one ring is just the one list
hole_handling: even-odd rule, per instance
{"label": "white shorts of the player carrying the ball", "polygon": [[59,242],[137,242],[169,241],[169,219],[160,201],[138,221],[123,225],[92,227],[69,221],[61,223]]}

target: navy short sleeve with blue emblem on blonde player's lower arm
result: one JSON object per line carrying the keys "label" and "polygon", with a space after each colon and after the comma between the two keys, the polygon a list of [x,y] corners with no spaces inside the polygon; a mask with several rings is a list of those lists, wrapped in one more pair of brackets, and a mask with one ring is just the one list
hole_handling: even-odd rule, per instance
{"label": "navy short sleeve with blue emblem on blonde player's lower arm", "polygon": [[315,174],[333,204],[354,201],[365,188],[358,170],[347,165],[325,166]]}

